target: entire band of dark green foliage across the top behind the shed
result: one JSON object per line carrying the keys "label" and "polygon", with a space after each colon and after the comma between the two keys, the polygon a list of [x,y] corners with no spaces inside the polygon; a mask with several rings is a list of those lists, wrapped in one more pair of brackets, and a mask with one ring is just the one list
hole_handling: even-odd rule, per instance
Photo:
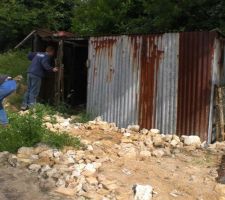
{"label": "entire band of dark green foliage across the top behind the shed", "polygon": [[1,0],[0,47],[35,28],[82,35],[183,30],[225,32],[224,0]]}

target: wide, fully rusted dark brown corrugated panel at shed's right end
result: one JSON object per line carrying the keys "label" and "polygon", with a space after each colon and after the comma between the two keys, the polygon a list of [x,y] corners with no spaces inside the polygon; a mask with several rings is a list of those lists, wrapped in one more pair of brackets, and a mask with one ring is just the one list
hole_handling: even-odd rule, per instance
{"label": "wide, fully rusted dark brown corrugated panel at shed's right end", "polygon": [[177,133],[208,139],[215,32],[180,33]]}

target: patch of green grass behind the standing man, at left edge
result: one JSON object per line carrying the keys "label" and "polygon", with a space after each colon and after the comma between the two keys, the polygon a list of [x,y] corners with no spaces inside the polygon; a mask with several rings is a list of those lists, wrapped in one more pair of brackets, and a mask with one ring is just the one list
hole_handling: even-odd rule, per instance
{"label": "patch of green grass behind the standing man, at left edge", "polygon": [[30,61],[27,59],[29,50],[9,51],[0,54],[0,74],[12,77],[22,75],[26,78],[26,72]]}

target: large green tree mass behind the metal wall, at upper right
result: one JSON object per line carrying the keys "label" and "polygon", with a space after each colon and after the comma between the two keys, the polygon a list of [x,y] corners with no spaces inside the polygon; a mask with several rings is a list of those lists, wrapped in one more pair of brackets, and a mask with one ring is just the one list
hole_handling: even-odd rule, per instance
{"label": "large green tree mass behind the metal wall, at upper right", "polygon": [[72,30],[84,34],[225,31],[224,0],[77,0]]}

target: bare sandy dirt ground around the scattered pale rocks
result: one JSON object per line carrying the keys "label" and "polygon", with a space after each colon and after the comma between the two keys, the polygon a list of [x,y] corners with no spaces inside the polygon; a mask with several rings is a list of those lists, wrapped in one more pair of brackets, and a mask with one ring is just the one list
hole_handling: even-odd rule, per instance
{"label": "bare sandy dirt ground around the scattered pale rocks", "polygon": [[[101,143],[104,151],[95,152],[99,157],[109,157],[99,173],[116,180],[121,200],[131,200],[134,184],[154,187],[153,200],[217,200],[214,191],[220,155],[206,151],[177,152],[174,156],[149,160],[124,159],[117,156],[115,144],[122,134],[103,130],[75,129],[72,135],[91,143]],[[0,165],[0,200],[66,200],[41,191],[37,178],[26,170]]]}

